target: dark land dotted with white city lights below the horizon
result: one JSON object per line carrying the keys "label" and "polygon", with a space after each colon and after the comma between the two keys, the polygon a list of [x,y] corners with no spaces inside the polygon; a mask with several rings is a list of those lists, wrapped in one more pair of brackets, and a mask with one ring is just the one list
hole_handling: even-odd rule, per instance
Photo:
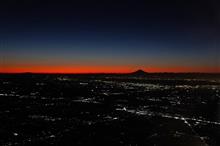
{"label": "dark land dotted with white city lights below the horizon", "polygon": [[219,146],[217,74],[0,74],[0,145]]}

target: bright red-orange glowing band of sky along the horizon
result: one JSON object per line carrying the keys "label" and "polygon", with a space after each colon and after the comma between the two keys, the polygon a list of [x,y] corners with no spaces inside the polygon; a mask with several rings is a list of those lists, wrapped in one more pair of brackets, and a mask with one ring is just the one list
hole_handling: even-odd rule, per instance
{"label": "bright red-orange glowing band of sky along the horizon", "polygon": [[146,72],[204,72],[220,73],[220,67],[131,67],[131,66],[3,66],[1,73],[130,73],[138,69]]}

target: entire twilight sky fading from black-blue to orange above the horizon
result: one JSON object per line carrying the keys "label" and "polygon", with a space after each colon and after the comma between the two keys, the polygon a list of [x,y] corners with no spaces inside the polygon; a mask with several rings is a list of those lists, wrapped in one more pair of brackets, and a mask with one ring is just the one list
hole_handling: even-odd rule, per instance
{"label": "entire twilight sky fading from black-blue to orange above the horizon", "polygon": [[218,0],[2,0],[0,72],[220,72]]}

